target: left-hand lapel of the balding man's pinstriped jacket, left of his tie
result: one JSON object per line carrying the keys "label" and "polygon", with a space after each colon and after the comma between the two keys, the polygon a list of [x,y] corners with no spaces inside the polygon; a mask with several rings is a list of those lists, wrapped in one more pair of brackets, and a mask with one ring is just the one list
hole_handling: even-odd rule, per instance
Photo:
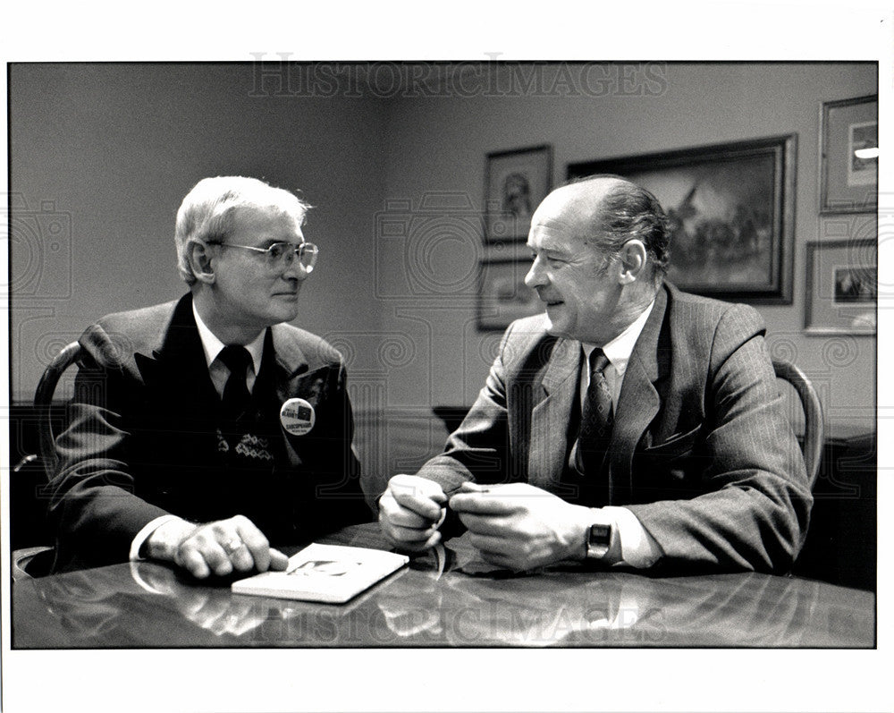
{"label": "left-hand lapel of the balding man's pinstriped jacket, left of his tie", "polygon": [[538,488],[559,487],[567,455],[566,434],[578,395],[580,342],[560,339],[552,348],[541,381],[539,401],[531,412],[528,482]]}

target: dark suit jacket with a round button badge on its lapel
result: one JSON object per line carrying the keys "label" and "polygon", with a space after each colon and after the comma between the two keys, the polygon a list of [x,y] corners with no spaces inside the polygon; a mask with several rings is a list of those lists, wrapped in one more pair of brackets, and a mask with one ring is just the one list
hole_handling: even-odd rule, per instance
{"label": "dark suit jacket with a round button badge on its lapel", "polygon": [[[369,519],[341,355],[296,327],[267,330],[255,392],[266,381],[258,411],[282,433],[281,457],[226,471],[216,447],[220,400],[191,304],[186,295],[109,315],[81,336],[51,483],[56,570],[126,560],[139,530],[168,513],[193,522],[244,514],[274,544]],[[316,410],[304,436],[279,428],[280,407],[295,396]]]}

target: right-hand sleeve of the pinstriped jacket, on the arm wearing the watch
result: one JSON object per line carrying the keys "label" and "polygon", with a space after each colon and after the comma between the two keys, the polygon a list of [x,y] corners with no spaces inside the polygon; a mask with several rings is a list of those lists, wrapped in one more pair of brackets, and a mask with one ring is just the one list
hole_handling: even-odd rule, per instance
{"label": "right-hand sleeve of the pinstriped jacket, on the arm wearing the watch", "polygon": [[704,493],[628,509],[662,548],[659,565],[785,571],[812,498],[754,310],[721,317],[704,399]]}

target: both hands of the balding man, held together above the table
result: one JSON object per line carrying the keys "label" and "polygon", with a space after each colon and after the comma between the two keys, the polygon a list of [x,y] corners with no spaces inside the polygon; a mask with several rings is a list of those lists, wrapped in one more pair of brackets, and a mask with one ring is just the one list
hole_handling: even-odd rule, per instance
{"label": "both hands of the balding man, held together above the table", "polygon": [[379,523],[392,545],[418,552],[441,539],[448,507],[491,564],[520,572],[586,556],[590,511],[527,483],[465,482],[448,501],[433,480],[395,475],[379,499]]}

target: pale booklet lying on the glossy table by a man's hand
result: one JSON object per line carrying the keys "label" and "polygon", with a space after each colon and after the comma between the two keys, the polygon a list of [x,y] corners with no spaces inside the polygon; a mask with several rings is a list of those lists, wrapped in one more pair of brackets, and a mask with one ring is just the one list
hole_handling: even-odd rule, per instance
{"label": "pale booklet lying on the glossy table by a man's hand", "polygon": [[232,582],[237,594],[342,604],[409,563],[381,549],[308,545],[289,558],[284,572],[264,572]]}

